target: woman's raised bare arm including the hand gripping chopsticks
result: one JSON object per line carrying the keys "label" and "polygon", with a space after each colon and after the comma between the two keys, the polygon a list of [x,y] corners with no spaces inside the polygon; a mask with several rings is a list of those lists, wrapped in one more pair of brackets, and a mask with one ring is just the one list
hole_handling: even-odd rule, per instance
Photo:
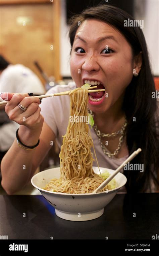
{"label": "woman's raised bare arm including the hand gripping chopsticks", "polygon": [[[13,194],[28,183],[49,151],[51,147],[50,140],[54,140],[55,135],[49,126],[44,123],[39,107],[41,101],[38,97],[32,97],[31,94],[27,93],[8,93],[7,96],[8,103],[5,106],[5,111],[12,121],[20,125],[18,130],[20,141],[24,145],[34,146],[40,137],[38,147],[30,151],[20,148],[15,139],[2,159],[1,184],[8,194]],[[1,97],[3,98],[3,95]],[[27,110],[21,110],[17,106],[18,103],[27,107]]]}

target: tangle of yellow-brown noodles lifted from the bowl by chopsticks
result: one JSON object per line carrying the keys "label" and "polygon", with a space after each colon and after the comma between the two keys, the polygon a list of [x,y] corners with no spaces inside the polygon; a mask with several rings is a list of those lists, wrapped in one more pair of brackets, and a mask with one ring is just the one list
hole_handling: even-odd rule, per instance
{"label": "tangle of yellow-brown noodles lifted from the bowl by chopsticks", "polygon": [[[88,90],[76,88],[70,95],[70,116],[88,117]],[[73,120],[74,121],[74,120]],[[60,193],[92,193],[104,181],[93,171],[92,137],[86,122],[70,122],[63,136],[60,157],[60,179],[52,179],[45,190]],[[105,186],[101,191],[111,189]]]}

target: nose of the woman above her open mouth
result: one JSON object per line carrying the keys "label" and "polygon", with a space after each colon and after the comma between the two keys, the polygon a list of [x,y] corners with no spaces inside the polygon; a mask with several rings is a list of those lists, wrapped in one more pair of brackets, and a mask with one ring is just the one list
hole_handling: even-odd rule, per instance
{"label": "nose of the woman above her open mouth", "polygon": [[82,69],[86,72],[99,71],[100,66],[97,63],[97,57],[94,55],[86,57],[85,62],[82,65]]}

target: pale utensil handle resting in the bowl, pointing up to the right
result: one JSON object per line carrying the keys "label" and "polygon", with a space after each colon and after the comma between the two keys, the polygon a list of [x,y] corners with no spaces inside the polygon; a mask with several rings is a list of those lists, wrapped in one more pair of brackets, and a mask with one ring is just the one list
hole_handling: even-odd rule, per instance
{"label": "pale utensil handle resting in the bowl, pointing up to the right", "polygon": [[98,188],[96,188],[92,193],[97,193],[99,190],[104,188],[114,177],[115,175],[122,170],[125,164],[130,162],[134,157],[136,157],[142,150],[139,148],[133,152]]}

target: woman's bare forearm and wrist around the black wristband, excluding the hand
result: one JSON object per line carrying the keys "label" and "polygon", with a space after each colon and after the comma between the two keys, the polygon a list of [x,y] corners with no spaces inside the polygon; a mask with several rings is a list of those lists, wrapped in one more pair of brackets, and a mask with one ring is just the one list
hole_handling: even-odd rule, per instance
{"label": "woman's bare forearm and wrist around the black wristband, excluding the hand", "polygon": [[45,122],[42,131],[26,131],[25,126],[20,126],[18,134],[24,144],[36,144],[39,137],[40,143],[36,149],[29,151],[20,148],[14,140],[1,162],[1,185],[7,194],[14,194],[28,183],[51,148],[50,141],[55,139],[53,131]]}

